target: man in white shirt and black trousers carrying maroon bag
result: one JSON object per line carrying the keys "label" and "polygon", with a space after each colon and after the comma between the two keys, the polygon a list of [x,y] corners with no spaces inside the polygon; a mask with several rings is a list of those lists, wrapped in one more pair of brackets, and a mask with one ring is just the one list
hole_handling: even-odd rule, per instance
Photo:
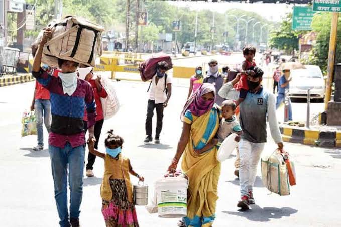
{"label": "man in white shirt and black trousers carrying maroon bag", "polygon": [[168,65],[165,61],[161,61],[157,65],[157,72],[152,78],[149,92],[149,100],[147,107],[147,119],[146,119],[146,139],[145,143],[153,141],[153,116],[154,108],[156,109],[156,133],[155,143],[160,143],[160,133],[162,130],[163,109],[167,107],[169,98],[172,95],[172,80],[171,77],[166,74]]}

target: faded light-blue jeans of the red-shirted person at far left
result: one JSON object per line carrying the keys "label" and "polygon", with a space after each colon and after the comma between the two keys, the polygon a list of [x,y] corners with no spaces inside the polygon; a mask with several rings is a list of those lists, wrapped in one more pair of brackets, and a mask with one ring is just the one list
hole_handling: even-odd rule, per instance
{"label": "faded light-blue jeans of the red-shirted person at far left", "polygon": [[44,146],[43,116],[45,127],[48,132],[51,128],[51,102],[50,100],[36,99],[34,102],[37,119],[38,145]]}

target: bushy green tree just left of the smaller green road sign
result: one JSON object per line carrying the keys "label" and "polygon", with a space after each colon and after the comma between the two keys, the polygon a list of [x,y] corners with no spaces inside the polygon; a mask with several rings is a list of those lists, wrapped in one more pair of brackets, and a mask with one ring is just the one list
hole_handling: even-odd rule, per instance
{"label": "bushy green tree just left of the smaller green road sign", "polygon": [[291,29],[292,14],[288,14],[278,30],[275,30],[270,35],[270,47],[284,50],[288,54],[294,54],[298,50],[299,35],[304,32],[296,32]]}

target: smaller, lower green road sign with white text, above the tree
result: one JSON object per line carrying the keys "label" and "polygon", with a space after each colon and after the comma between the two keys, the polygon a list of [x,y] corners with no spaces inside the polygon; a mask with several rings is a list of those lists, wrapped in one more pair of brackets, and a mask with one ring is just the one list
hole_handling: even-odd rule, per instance
{"label": "smaller, lower green road sign with white text, above the tree", "polygon": [[314,12],[311,7],[294,7],[292,30],[311,30],[311,21]]}

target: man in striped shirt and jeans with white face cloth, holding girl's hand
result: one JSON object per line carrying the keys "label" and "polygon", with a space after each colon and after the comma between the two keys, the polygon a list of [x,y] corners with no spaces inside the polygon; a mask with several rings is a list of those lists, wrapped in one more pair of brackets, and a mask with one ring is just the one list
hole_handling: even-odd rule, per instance
{"label": "man in striped shirt and jeans with white face cloth, holding girl's hand", "polygon": [[[90,141],[94,140],[96,106],[91,85],[77,78],[78,63],[58,58],[58,65],[62,71],[58,77],[49,75],[40,67],[44,45],[51,37],[52,29],[47,28],[33,61],[32,75],[50,92],[52,124],[49,134],[49,153],[59,224],[62,227],[70,224],[72,227],[78,227],[85,155],[84,108],[88,114],[88,141]],[[70,214],[67,203],[68,180]]]}

